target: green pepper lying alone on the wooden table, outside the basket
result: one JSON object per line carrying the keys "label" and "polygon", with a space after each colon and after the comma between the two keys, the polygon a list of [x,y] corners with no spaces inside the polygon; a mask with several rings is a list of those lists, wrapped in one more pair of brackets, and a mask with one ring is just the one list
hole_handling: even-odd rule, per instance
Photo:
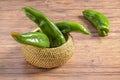
{"label": "green pepper lying alone on the wooden table, outside the basket", "polygon": [[100,36],[108,35],[110,31],[109,21],[102,13],[95,10],[84,10],[83,15],[96,27]]}

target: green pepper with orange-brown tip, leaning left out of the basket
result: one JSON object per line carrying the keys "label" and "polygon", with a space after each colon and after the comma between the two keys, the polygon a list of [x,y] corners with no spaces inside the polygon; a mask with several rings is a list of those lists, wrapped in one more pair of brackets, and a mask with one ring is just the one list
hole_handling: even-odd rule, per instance
{"label": "green pepper with orange-brown tip, leaning left out of the basket", "polygon": [[11,36],[19,43],[28,44],[41,48],[49,48],[50,42],[48,37],[41,32],[29,32],[25,34],[19,34],[12,32]]}

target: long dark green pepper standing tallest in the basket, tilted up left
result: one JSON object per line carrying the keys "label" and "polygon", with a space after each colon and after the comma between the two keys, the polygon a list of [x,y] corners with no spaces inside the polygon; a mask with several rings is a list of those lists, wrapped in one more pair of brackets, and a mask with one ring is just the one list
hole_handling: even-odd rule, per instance
{"label": "long dark green pepper standing tallest in the basket, tilted up left", "polygon": [[26,16],[35,22],[43,33],[45,33],[50,40],[50,47],[58,47],[66,42],[64,35],[52,21],[42,12],[31,7],[24,7]]}

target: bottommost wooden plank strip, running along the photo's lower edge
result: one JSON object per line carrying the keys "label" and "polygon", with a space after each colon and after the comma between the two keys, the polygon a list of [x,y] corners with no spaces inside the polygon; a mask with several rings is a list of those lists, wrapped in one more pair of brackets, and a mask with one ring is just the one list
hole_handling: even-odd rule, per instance
{"label": "bottommost wooden plank strip, running along the photo's lower edge", "polygon": [[41,75],[41,74],[33,74],[33,75],[6,75],[6,76],[2,76],[1,78],[4,78],[4,80],[40,80],[40,79],[44,79],[44,80],[119,80],[120,76],[118,75],[80,75],[80,76],[75,76],[75,77],[71,77],[71,76],[66,76],[66,77],[57,77],[57,76],[45,76],[45,75]]}

